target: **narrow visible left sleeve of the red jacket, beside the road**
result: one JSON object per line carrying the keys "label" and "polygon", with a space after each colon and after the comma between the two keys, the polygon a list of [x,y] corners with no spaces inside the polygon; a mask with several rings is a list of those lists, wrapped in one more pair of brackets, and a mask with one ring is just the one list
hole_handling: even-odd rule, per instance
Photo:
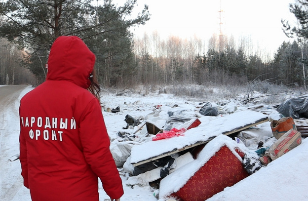
{"label": "narrow visible left sleeve of the red jacket, beside the road", "polygon": [[24,178],[24,186],[29,189],[27,145],[21,123],[19,134],[19,161],[21,163],[21,175]]}

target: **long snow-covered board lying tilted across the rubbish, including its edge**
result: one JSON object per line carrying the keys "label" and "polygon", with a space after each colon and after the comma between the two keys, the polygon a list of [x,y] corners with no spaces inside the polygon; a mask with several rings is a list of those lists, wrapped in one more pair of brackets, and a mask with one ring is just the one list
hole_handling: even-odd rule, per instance
{"label": "long snow-covered board lying tilted across the rubbish, including its edge", "polygon": [[[138,166],[149,161],[185,151],[197,145],[206,144],[220,134],[230,135],[266,121],[268,121],[267,115],[249,110],[223,116],[210,123],[202,123],[201,121],[198,127],[187,130],[184,136],[173,137],[168,140],[149,141],[133,147],[131,151],[131,163],[134,166]],[[191,122],[189,122],[189,124],[191,124]],[[185,125],[183,125],[183,127],[185,127]],[[159,149],[155,149],[156,147],[159,147]],[[139,154],[141,152],[143,153],[142,155]]]}

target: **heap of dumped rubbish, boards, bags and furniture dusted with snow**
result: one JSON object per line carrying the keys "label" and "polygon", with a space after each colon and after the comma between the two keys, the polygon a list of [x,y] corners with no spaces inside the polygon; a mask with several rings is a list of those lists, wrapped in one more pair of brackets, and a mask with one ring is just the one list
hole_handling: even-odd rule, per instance
{"label": "heap of dumped rubbish, boards, bags and furniture dusted with snow", "polygon": [[[150,185],[159,201],[205,201],[301,144],[308,101],[299,99],[277,110],[234,100],[154,105],[144,116],[126,114],[111,151],[130,175],[127,186]],[[114,113],[121,112],[119,106]]]}

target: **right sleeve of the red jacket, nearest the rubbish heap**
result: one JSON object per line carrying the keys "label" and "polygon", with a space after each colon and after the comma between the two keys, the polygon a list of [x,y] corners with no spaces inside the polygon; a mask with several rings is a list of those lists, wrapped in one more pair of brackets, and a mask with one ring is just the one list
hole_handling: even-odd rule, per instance
{"label": "right sleeve of the red jacket, nearest the rubbish heap", "polygon": [[107,195],[113,199],[120,198],[123,195],[122,181],[110,152],[110,139],[96,98],[81,116],[79,135],[85,160],[101,179]]}

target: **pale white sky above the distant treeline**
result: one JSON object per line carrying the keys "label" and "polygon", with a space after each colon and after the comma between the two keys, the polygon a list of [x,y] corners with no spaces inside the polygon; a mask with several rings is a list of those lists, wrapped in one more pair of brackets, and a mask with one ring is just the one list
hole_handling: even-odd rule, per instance
{"label": "pale white sky above the distant treeline", "polygon": [[[124,0],[114,0],[122,5]],[[144,33],[158,32],[160,39],[170,35],[183,39],[194,36],[207,45],[213,34],[219,34],[222,10],[223,35],[253,42],[254,47],[270,54],[289,39],[282,31],[281,19],[295,21],[289,4],[295,0],[137,0],[133,14],[141,12],[144,4],[149,6],[151,19],[146,25],[135,27],[132,32],[142,38]]]}

